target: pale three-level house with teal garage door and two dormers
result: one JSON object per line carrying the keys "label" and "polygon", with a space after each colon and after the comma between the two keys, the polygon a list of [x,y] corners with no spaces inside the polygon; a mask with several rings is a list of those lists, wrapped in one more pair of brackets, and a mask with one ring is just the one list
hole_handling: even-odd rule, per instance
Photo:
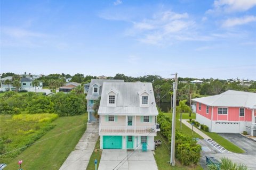
{"label": "pale three-level house with teal garage door and two dormers", "polygon": [[154,150],[158,111],[151,83],[104,82],[100,107],[101,149]]}

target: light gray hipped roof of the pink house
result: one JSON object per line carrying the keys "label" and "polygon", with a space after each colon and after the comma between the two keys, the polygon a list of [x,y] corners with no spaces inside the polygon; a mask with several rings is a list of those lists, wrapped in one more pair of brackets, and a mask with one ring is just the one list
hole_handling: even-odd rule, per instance
{"label": "light gray hipped roof of the pink house", "polygon": [[192,99],[209,106],[256,108],[256,94],[253,92],[228,90],[220,95]]}

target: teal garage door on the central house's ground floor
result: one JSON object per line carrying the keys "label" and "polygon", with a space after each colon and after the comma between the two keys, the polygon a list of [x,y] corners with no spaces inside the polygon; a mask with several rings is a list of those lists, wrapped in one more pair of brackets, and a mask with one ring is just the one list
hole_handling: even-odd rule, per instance
{"label": "teal garage door on the central house's ground floor", "polygon": [[103,136],[103,149],[122,149],[122,136]]}

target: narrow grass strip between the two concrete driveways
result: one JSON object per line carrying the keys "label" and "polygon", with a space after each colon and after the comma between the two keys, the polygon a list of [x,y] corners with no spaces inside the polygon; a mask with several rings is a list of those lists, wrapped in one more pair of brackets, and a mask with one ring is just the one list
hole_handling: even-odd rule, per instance
{"label": "narrow grass strip between the two concrete driveways", "polygon": [[100,149],[100,137],[94,147],[94,151],[92,152],[89,164],[86,168],[86,170],[94,170],[95,169],[95,164],[94,160],[97,159],[97,168],[100,165],[100,158],[101,158],[102,150]]}

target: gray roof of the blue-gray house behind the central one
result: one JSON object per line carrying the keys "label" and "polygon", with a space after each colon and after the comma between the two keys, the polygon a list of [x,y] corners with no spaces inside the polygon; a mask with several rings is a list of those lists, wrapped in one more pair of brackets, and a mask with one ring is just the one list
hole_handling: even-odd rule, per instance
{"label": "gray roof of the blue-gray house behind the central one", "polygon": [[[86,96],[87,100],[97,100],[101,96],[103,82],[124,82],[124,80],[92,79],[88,90],[88,94]],[[92,85],[95,83],[98,83],[101,86],[99,95],[95,95],[92,93]]]}

